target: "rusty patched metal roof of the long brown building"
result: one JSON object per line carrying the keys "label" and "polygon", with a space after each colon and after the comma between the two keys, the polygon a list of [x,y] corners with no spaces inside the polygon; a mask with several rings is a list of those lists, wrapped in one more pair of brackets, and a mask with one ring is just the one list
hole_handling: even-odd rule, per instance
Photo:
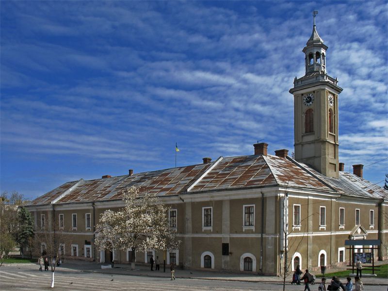
{"label": "rusty patched metal roof of the long brown building", "polygon": [[159,196],[287,186],[331,194],[388,198],[388,191],[353,174],[340,172],[339,179],[329,178],[290,157],[249,155],[220,157],[206,164],[131,176],[71,181],[36,198],[30,205],[117,200],[122,198],[123,190],[131,186]]}

